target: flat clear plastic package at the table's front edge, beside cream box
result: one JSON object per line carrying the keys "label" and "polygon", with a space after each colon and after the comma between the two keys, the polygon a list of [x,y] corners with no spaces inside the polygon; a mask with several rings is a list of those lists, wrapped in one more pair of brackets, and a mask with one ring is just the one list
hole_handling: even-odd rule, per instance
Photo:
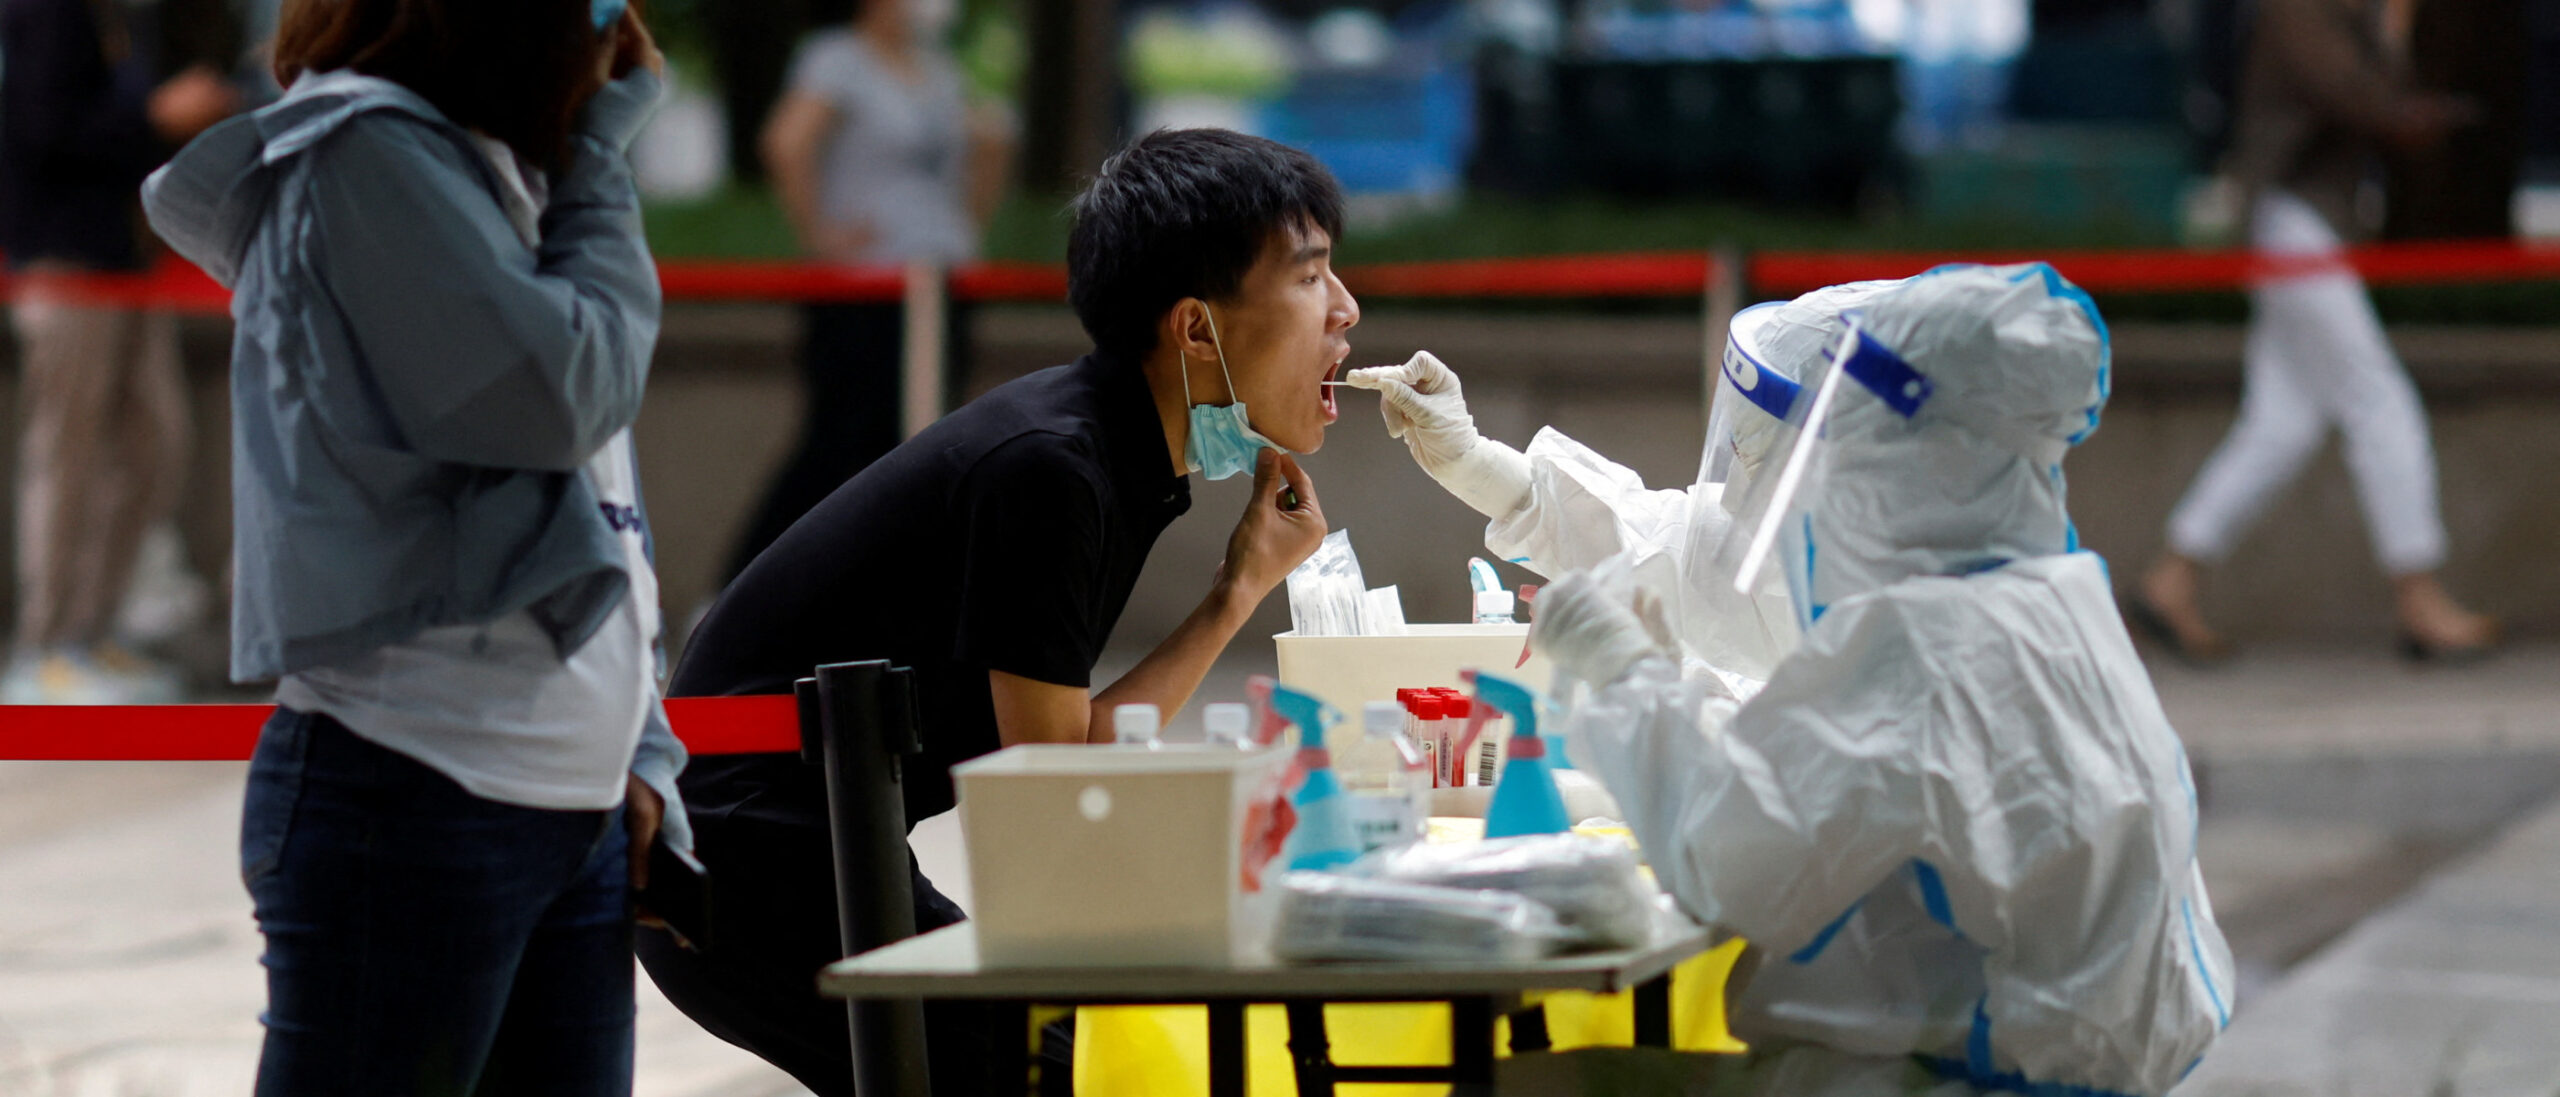
{"label": "flat clear plastic package at the table's front edge, beside cream box", "polygon": [[1546,905],[1508,892],[1280,875],[1272,956],[1283,961],[1523,961],[1554,956],[1574,936]]}

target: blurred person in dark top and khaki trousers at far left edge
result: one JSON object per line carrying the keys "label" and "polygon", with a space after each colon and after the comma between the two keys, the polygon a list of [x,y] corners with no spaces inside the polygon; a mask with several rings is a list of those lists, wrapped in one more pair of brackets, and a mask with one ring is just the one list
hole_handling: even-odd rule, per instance
{"label": "blurred person in dark top and khaki trousers at far left edge", "polygon": [[[177,315],[82,292],[156,245],[136,194],[241,105],[212,64],[172,69],[156,8],[0,8],[0,251],[18,297],[18,621],[0,701],[177,701],[179,675],[110,642],[143,537],[187,478]],[[174,72],[174,74],[169,74]]]}

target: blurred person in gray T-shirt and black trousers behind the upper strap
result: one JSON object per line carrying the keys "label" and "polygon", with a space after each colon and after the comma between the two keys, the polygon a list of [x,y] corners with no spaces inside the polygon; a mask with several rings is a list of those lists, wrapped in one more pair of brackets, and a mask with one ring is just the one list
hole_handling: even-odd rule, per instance
{"label": "blurred person in gray T-shirt and black trousers behind the upper strap", "polygon": [[[952,0],[860,0],[791,61],[760,151],[801,248],[827,263],[950,268],[978,258],[1004,199],[1011,133],[973,107],[945,38]],[[968,361],[968,307],[945,309],[952,386]],[[801,437],[730,552],[735,578],[791,522],[901,440],[899,302],[809,304],[801,332]]]}

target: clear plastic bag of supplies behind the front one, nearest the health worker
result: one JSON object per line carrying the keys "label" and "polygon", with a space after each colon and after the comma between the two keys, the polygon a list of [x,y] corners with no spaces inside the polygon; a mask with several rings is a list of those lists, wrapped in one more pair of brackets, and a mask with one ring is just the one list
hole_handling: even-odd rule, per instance
{"label": "clear plastic bag of supplies behind the front one, nearest the health worker", "polygon": [[1636,949],[1654,938],[1659,890],[1626,841],[1582,834],[1380,849],[1349,872],[1428,887],[1526,895],[1556,913],[1580,949]]}

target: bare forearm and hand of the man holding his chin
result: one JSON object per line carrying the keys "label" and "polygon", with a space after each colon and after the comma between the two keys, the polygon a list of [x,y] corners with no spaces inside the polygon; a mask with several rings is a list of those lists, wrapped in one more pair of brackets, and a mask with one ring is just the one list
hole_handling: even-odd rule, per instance
{"label": "bare forearm and hand of the man holding his chin", "polygon": [[[1295,494],[1298,506],[1283,506]],[[1226,560],[1208,596],[1111,688],[1088,693],[1075,685],[1050,685],[1004,670],[988,670],[996,696],[996,736],[1006,747],[1027,742],[1111,742],[1111,711],[1152,703],[1167,713],[1183,708],[1208,678],[1244,621],[1293,568],[1324,542],[1324,509],[1316,481],[1285,453],[1262,450],[1254,463],[1254,491],[1244,519],[1226,540]]]}

